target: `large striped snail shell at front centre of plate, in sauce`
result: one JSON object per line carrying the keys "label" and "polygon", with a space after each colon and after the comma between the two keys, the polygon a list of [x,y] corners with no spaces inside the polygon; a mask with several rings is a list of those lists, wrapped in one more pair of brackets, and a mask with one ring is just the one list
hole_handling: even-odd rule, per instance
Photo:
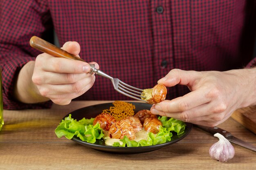
{"label": "large striped snail shell at front centre of plate, in sauce", "polygon": [[126,136],[128,139],[133,140],[135,139],[135,132],[127,121],[120,120],[110,126],[108,136],[114,139],[123,139]]}

